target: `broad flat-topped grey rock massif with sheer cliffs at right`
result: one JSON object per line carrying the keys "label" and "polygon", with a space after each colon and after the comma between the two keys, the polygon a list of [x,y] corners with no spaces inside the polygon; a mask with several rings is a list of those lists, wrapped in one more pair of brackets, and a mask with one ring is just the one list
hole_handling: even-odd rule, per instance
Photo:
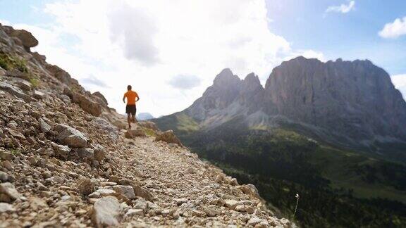
{"label": "broad flat-topped grey rock massif with sheer cliffs at right", "polygon": [[353,141],[406,140],[406,103],[370,61],[295,58],[266,82],[269,114],[324,128]]}

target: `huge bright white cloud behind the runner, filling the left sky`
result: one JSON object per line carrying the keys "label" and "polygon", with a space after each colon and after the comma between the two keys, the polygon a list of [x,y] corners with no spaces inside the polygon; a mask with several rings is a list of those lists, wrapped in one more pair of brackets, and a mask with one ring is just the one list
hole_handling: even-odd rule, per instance
{"label": "huge bright white cloud behind the runner, filling the left sky", "polygon": [[[127,84],[142,97],[140,112],[167,115],[190,106],[223,68],[265,80],[288,56],[322,57],[271,32],[265,0],[58,0],[44,8],[51,25],[14,26],[30,30],[36,51],[119,112]],[[173,75],[198,75],[199,83],[174,88]]]}

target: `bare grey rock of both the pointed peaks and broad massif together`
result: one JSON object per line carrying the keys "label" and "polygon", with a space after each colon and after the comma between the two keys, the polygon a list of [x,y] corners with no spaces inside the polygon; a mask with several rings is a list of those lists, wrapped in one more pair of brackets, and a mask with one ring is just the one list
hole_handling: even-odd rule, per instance
{"label": "bare grey rock of both the pointed peaks and broad massif together", "polygon": [[388,73],[370,61],[298,57],[274,68],[265,88],[229,69],[183,111],[212,129],[235,118],[248,127],[296,126],[333,144],[406,141],[406,103]]}

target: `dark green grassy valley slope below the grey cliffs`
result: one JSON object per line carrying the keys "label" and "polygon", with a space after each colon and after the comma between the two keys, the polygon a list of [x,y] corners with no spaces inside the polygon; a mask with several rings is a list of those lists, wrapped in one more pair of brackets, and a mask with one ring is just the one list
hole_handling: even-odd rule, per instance
{"label": "dark green grassy valley slope below the grey cliffs", "polygon": [[[230,175],[241,179],[243,183],[256,184],[262,195],[269,202],[275,203],[276,207],[281,208],[285,215],[293,210],[291,204],[294,202],[291,202],[289,197],[295,192],[302,192],[304,197],[308,198],[322,198],[317,200],[320,205],[314,205],[315,208],[311,208],[314,201],[305,204],[308,210],[302,210],[299,215],[304,226],[305,224],[357,226],[354,223],[345,224],[345,220],[340,220],[343,217],[350,220],[350,215],[353,216],[352,222],[359,222],[354,217],[364,215],[374,221],[383,221],[382,217],[377,217],[380,216],[381,210],[382,215],[392,216],[393,210],[396,210],[393,208],[398,207],[395,203],[395,206],[389,206],[388,212],[383,213],[387,202],[377,201],[378,206],[371,207],[374,201],[363,203],[353,201],[351,196],[340,198],[340,194],[347,192],[357,198],[387,198],[406,203],[405,165],[391,163],[376,156],[369,156],[367,153],[315,144],[308,137],[292,129],[273,129],[271,134],[266,131],[252,133],[251,129],[243,129],[242,125],[236,124],[238,121],[235,121],[211,132],[204,132],[199,130],[197,122],[183,113],[162,119],[155,121],[158,127],[173,129],[185,145],[199,153],[199,156],[216,163]],[[260,168],[253,167],[255,165]],[[323,179],[327,181],[324,182]],[[312,183],[317,184],[312,186]],[[325,192],[321,190],[325,189],[325,183],[331,190],[327,189]],[[340,210],[340,216],[337,215],[339,219],[334,217],[334,213],[331,215],[332,212],[323,214],[320,208],[323,208],[326,202],[341,203],[337,207],[330,208],[332,211]],[[383,208],[379,208],[381,205]],[[354,212],[356,208],[362,208],[358,214]],[[349,214],[345,215],[343,211]],[[402,216],[402,213],[393,215],[395,219],[390,217],[388,220],[397,220],[397,216]],[[401,217],[402,221],[403,218]]]}

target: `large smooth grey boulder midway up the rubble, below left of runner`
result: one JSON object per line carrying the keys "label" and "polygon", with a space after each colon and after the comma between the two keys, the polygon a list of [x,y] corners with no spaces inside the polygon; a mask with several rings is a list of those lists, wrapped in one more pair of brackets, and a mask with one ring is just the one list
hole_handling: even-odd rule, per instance
{"label": "large smooth grey boulder midway up the rubble, below left of runner", "polygon": [[85,135],[73,127],[59,124],[52,127],[52,130],[58,132],[56,140],[61,142],[61,144],[72,148],[83,148],[87,146],[87,138]]}

